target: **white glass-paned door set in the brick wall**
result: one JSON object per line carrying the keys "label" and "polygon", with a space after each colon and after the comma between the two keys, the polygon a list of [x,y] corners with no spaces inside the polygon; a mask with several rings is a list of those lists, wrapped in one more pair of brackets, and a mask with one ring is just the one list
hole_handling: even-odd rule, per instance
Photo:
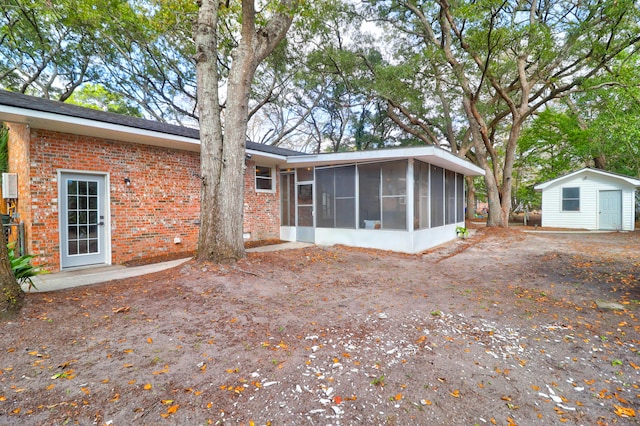
{"label": "white glass-paned door set in the brick wall", "polygon": [[106,263],[105,181],[103,175],[61,174],[62,268]]}

